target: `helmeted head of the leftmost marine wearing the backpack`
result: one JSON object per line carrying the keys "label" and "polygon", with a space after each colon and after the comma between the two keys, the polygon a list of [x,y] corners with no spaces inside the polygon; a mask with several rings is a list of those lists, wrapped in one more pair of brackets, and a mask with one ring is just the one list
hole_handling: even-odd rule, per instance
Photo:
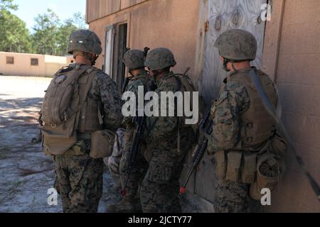
{"label": "helmeted head of the leftmost marine wearing the backpack", "polygon": [[70,35],[68,53],[73,55],[75,62],[95,65],[101,52],[101,41],[93,31],[80,29]]}

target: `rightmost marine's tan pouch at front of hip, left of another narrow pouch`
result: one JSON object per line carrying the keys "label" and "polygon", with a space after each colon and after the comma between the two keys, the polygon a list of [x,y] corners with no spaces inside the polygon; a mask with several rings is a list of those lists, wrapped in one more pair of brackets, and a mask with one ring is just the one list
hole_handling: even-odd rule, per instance
{"label": "rightmost marine's tan pouch at front of hip, left of another narrow pouch", "polygon": [[240,177],[242,153],[231,151],[228,153],[228,167],[225,179],[238,182]]}

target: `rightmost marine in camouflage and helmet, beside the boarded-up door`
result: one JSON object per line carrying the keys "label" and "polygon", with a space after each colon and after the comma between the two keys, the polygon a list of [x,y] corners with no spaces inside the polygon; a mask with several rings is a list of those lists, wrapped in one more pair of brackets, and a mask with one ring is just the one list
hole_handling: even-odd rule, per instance
{"label": "rightmost marine in camouflage and helmet, beside the boarded-up door", "polygon": [[[218,37],[215,48],[218,48],[221,57],[223,57],[224,69],[228,72],[232,71],[224,80],[218,99],[213,101],[211,107],[213,133],[208,135],[208,153],[216,154],[217,166],[221,166],[223,163],[218,159],[218,152],[222,152],[223,158],[227,158],[227,160],[232,151],[241,155],[260,153],[262,148],[265,148],[270,135],[274,134],[275,123],[268,117],[261,99],[250,100],[250,91],[255,89],[248,89],[249,85],[246,84],[246,82],[250,83],[250,80],[247,79],[250,78],[250,71],[256,70],[255,67],[250,67],[250,61],[255,60],[257,52],[255,37],[247,31],[231,29]],[[247,66],[243,67],[241,65],[243,63]],[[263,78],[262,82],[267,84],[264,86],[269,88],[268,96],[272,98],[272,104],[276,106],[278,96],[272,80],[263,72],[259,70],[256,72],[259,74],[260,80],[262,81]],[[262,114],[259,112],[260,110],[255,111],[256,116],[253,114],[249,117],[250,119],[246,119],[245,114],[250,110],[250,106],[257,105],[261,107]],[[260,134],[258,135],[261,133],[259,127],[262,125],[255,120],[261,120],[260,122],[265,123],[267,127],[266,136],[262,136],[262,139],[257,143],[255,143],[255,136],[260,136]],[[247,121],[253,123],[247,123]],[[255,127],[257,127],[255,129],[256,135],[248,135],[250,130]],[[231,165],[230,162],[228,160],[228,165]],[[243,157],[240,162],[243,162]],[[255,166],[252,168],[255,170]],[[217,177],[215,211],[217,213],[255,211],[252,209],[253,206],[256,206],[255,209],[259,206],[250,198],[250,184],[242,182],[241,179],[226,179],[224,175],[225,172]]]}

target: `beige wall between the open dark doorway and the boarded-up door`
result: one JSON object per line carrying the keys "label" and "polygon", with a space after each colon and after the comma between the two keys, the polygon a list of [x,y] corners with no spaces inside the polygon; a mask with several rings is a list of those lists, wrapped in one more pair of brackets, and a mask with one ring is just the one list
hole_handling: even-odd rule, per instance
{"label": "beige wall between the open dark doorway and the boarded-up door", "polygon": [[[100,36],[104,47],[106,26],[127,22],[130,48],[170,48],[178,62],[174,71],[184,72],[186,67],[191,67],[193,72],[198,11],[198,0],[149,0],[93,21],[90,29]],[[102,67],[103,58],[100,55],[97,67]]]}

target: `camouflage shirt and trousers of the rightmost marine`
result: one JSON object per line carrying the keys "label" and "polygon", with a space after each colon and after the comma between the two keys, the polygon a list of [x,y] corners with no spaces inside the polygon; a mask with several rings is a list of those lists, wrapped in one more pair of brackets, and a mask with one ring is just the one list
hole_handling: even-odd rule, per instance
{"label": "camouflage shirt and trousers of the rightmost marine", "polygon": [[[242,69],[241,71],[250,72],[248,69]],[[232,72],[230,76],[232,76]],[[249,107],[250,96],[245,86],[240,82],[227,82],[227,79],[225,79],[218,99],[213,101],[211,107],[210,117],[213,119],[213,133],[207,135],[209,140],[208,153],[210,155],[219,150],[244,149],[240,138],[240,128],[242,126],[240,116]],[[263,145],[265,143],[256,145],[254,148],[245,148],[245,150],[257,152],[262,149]],[[217,179],[215,211],[218,213],[252,211],[252,204],[255,204],[255,202],[250,199],[249,189],[250,184]],[[259,208],[257,206],[255,210]]]}

